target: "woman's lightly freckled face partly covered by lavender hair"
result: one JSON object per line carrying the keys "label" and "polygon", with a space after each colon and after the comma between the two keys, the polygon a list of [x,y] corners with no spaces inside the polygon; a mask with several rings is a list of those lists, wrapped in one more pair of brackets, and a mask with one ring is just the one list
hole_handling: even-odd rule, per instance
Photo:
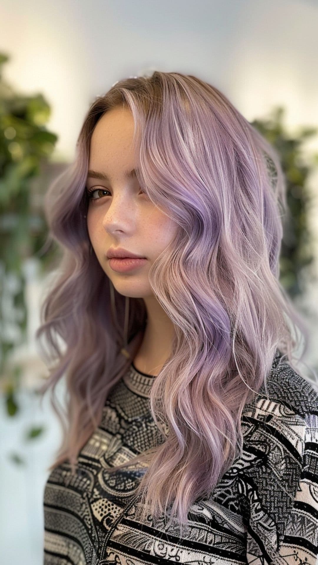
{"label": "woman's lightly freckled face partly covered by lavender hair", "polygon": [[[124,296],[153,296],[148,271],[153,261],[173,240],[178,224],[153,205],[141,191],[136,176],[124,173],[136,168],[132,151],[134,119],[127,108],[114,108],[98,120],[89,149],[89,171],[104,173],[108,180],[89,172],[87,225],[98,262],[115,289]],[[143,264],[127,272],[110,267],[110,247],[123,247],[145,257]]]}

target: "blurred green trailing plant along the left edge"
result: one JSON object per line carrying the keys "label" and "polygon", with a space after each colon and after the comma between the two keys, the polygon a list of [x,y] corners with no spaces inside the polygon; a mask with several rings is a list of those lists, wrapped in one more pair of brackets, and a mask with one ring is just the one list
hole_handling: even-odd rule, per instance
{"label": "blurred green trailing plant along the left edge", "polygon": [[[0,53],[0,384],[7,414],[14,416],[19,410],[16,392],[23,367],[9,368],[6,362],[25,340],[23,264],[37,256],[45,271],[56,253],[52,246],[41,255],[48,227],[32,180],[48,162],[58,136],[44,125],[51,111],[42,94],[16,93],[3,80],[2,65],[8,59]],[[29,432],[30,437],[37,435],[32,429]]]}

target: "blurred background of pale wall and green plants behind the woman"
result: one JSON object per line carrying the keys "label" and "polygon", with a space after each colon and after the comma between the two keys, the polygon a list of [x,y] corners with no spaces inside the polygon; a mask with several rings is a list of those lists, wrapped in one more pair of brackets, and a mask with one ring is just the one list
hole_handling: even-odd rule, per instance
{"label": "blurred background of pale wall and green plants behind the woman", "polygon": [[[40,565],[42,498],[61,429],[35,331],[58,264],[43,197],[74,158],[94,97],[154,70],[220,89],[277,147],[290,218],[280,281],[306,317],[318,371],[318,1],[55,0],[0,5],[0,546]],[[311,376],[310,371],[308,375]],[[65,393],[63,382],[57,390]]]}

